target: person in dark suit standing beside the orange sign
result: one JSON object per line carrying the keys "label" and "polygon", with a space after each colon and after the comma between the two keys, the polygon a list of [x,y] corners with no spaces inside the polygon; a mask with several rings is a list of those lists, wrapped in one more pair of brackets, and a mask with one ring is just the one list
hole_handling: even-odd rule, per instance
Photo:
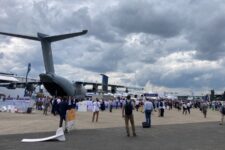
{"label": "person in dark suit standing beside the orange sign", "polygon": [[59,116],[60,116],[60,120],[59,120],[59,127],[61,128],[63,125],[63,120],[65,121],[65,132],[68,132],[67,129],[67,122],[66,122],[66,111],[68,110],[68,101],[67,99],[64,97],[63,100],[59,103]]}

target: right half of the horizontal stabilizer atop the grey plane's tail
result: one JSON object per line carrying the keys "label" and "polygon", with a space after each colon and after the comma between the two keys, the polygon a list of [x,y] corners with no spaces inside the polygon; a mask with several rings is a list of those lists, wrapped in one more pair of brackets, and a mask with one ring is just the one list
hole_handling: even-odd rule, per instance
{"label": "right half of the horizontal stabilizer atop the grey plane's tail", "polygon": [[49,42],[55,42],[55,41],[60,41],[60,40],[64,40],[64,39],[67,39],[67,38],[72,38],[72,37],[75,37],[75,36],[84,35],[87,32],[88,32],[87,30],[83,30],[82,32],[55,35],[55,36],[47,36],[47,37],[44,37],[44,39],[48,40]]}

